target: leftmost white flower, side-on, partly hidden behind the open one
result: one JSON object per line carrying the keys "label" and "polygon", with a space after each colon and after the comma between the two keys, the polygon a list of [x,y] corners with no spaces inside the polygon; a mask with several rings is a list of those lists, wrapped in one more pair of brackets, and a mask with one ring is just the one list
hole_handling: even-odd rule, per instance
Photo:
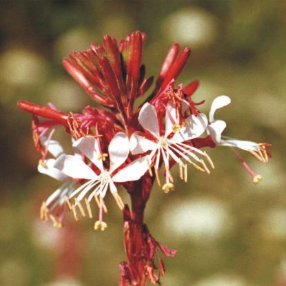
{"label": "leftmost white flower, side-on, partly hidden behind the open one", "polygon": [[[43,158],[39,161],[38,171],[41,174],[46,174],[58,181],[63,181],[63,185],[54,191],[46,201],[41,205],[41,219],[48,221],[48,218],[53,222],[54,227],[62,227],[63,214],[65,208],[65,196],[69,196],[74,190],[76,183],[72,181],[70,176],[63,174],[60,170],[54,167],[56,159],[63,154],[63,147],[61,144],[52,140],[52,134],[54,130],[50,132],[47,137],[41,137],[41,144],[45,147]],[[45,159],[47,154],[50,153],[54,156],[53,159]]]}

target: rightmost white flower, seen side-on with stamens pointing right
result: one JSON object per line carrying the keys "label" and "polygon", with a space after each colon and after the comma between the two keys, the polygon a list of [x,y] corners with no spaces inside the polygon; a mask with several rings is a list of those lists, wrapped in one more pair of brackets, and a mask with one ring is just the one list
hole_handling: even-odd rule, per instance
{"label": "rightmost white flower, seen side-on with stamens pointing right", "polygon": [[222,136],[223,130],[227,124],[225,121],[214,119],[214,113],[219,108],[223,108],[226,105],[229,105],[231,99],[228,96],[221,95],[216,97],[212,102],[212,106],[210,108],[210,125],[208,125],[207,130],[212,137],[212,140],[221,146],[229,146],[229,147],[238,147],[241,150],[248,151],[252,153],[259,161],[267,161],[267,152],[265,150],[265,144],[255,143],[252,141],[244,141],[238,139],[232,139],[227,136]]}

